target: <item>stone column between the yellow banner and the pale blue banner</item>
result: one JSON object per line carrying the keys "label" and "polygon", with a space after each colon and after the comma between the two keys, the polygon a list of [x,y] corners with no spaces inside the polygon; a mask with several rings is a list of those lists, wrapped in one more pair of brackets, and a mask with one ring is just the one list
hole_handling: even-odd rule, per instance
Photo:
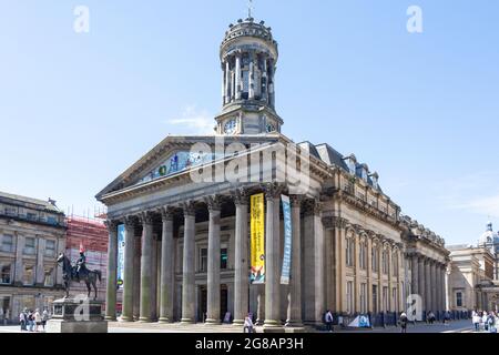
{"label": "stone column between the yellow banner and the pale blue banner", "polygon": [[265,323],[267,329],[282,329],[279,316],[278,260],[281,248],[279,195],[281,187],[269,183],[265,189],[267,200],[265,242]]}

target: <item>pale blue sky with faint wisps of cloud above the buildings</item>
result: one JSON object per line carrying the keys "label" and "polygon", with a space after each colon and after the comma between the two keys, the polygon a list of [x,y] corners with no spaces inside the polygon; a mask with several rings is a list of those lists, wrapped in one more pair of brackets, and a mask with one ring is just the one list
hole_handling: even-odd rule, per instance
{"label": "pale blue sky with faint wisps of cloud above the buildings", "polygon": [[[496,0],[256,0],[279,42],[283,133],[354,152],[403,213],[476,243],[489,219],[499,230],[498,13]],[[0,191],[93,214],[169,133],[213,128],[218,45],[245,16],[245,0],[0,0]]]}

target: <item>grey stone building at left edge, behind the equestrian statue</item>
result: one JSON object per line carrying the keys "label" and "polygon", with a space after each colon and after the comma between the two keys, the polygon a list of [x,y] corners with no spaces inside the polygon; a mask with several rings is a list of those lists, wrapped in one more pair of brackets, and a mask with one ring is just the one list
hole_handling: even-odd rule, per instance
{"label": "grey stone building at left edge, behind the equestrian statue", "polygon": [[51,308],[62,295],[58,253],[65,250],[64,214],[54,201],[0,192],[0,315]]}

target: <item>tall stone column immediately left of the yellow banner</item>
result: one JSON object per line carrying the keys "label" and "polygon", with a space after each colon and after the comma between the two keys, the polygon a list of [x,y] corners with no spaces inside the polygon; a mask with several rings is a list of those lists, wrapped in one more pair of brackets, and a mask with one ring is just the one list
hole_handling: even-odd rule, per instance
{"label": "tall stone column immediately left of the yellow banner", "polygon": [[235,221],[235,270],[234,270],[234,325],[244,324],[248,310],[248,230],[247,230],[247,195],[244,190],[233,194],[236,207]]}

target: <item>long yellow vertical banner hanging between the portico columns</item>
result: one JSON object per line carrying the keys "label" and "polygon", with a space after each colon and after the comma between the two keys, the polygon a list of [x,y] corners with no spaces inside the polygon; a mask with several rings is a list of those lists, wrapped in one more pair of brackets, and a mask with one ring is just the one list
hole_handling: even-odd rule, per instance
{"label": "long yellow vertical banner hanging between the portico columns", "polygon": [[251,196],[251,236],[253,284],[265,283],[265,195]]}

